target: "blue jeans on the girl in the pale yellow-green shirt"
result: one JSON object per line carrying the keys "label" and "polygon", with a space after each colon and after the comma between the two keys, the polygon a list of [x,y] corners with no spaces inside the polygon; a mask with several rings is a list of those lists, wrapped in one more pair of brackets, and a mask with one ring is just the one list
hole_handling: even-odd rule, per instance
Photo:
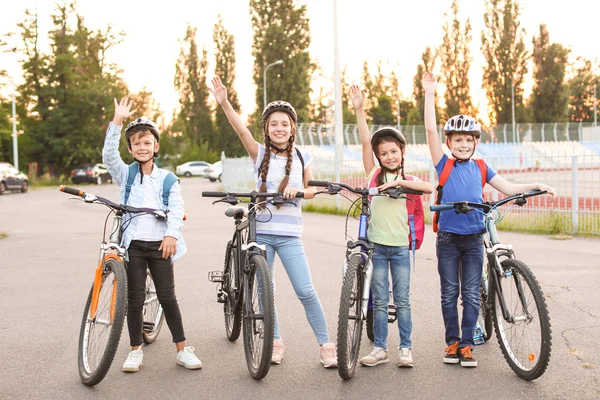
{"label": "blue jeans on the girl in the pale yellow-green shirt", "polygon": [[392,273],[392,294],[398,314],[400,347],[412,347],[410,334],[410,256],[408,246],[384,246],[375,243],[373,250],[373,335],[375,346],[387,349],[389,272]]}

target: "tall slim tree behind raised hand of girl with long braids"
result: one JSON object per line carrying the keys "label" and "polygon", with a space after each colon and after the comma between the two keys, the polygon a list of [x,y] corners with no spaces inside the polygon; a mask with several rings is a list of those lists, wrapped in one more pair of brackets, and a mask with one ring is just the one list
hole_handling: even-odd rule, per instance
{"label": "tall slim tree behind raised hand of girl with long braids", "polygon": [[[227,87],[227,98],[233,109],[239,113],[240,102],[235,91],[235,38],[225,29],[220,15],[213,29],[213,41],[215,42],[215,75],[219,76]],[[217,107],[216,125],[218,138],[216,142],[219,145],[215,150],[224,151],[230,157],[244,156],[246,150],[221,107]]]}

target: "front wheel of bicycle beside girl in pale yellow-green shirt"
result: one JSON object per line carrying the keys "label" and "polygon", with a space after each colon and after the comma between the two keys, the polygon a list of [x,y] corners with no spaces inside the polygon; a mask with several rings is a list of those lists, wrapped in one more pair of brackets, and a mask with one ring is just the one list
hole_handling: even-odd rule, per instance
{"label": "front wheel of bicycle beside girl in pale yellow-green shirt", "polygon": [[[363,296],[363,270],[365,261],[362,256],[350,257],[340,296],[338,314],[338,373],[344,380],[352,378],[358,361],[362,338],[363,315],[361,299]],[[350,321],[353,321],[351,323]]]}

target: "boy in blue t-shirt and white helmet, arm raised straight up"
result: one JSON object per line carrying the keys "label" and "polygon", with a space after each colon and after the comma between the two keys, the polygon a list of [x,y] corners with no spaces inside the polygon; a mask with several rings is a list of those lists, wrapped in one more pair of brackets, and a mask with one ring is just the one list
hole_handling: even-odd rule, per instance
{"label": "boy in blue t-shirt and white helmet, arm raised straight up", "polygon": [[[444,154],[437,132],[435,116],[435,89],[437,81],[432,73],[423,76],[425,90],[425,128],[431,159],[438,177],[448,156]],[[456,159],[444,184],[441,203],[454,201],[482,202],[481,170],[471,159],[481,136],[481,125],[473,117],[455,115],[444,126],[446,145]],[[545,190],[551,196],[553,188],[541,183],[514,184],[506,181],[487,166],[486,182],[499,192],[511,196],[530,190]],[[476,367],[472,354],[473,331],[480,306],[479,286],[484,261],[481,213],[440,213],[436,240],[438,273],[442,294],[442,315],[446,328],[446,356],[444,363]],[[459,276],[460,275],[460,276]],[[463,301],[462,323],[458,325],[458,295]],[[461,335],[462,331],[462,335]]]}

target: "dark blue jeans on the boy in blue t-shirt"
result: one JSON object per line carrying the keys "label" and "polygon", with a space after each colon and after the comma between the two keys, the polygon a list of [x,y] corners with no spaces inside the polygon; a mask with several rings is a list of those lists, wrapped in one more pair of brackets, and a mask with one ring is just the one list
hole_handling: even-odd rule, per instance
{"label": "dark blue jeans on the boy in blue t-shirt", "polygon": [[[477,324],[480,306],[483,235],[481,233],[459,235],[439,231],[436,247],[446,344],[459,342],[459,347],[473,346],[473,331]],[[460,330],[458,328],[459,292],[463,305]]]}

